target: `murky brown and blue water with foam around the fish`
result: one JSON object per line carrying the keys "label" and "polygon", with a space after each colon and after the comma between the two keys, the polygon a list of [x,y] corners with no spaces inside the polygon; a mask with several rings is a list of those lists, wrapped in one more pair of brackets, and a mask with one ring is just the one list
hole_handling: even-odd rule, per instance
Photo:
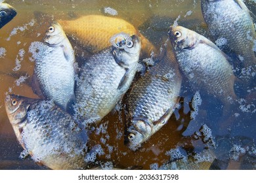
{"label": "murky brown and blue water with foam around the fish", "polygon": [[[18,14],[0,29],[0,48],[5,50],[4,54],[0,54],[0,169],[47,169],[36,165],[30,158],[19,158],[22,147],[16,141],[3,103],[7,93],[37,98],[30,87],[34,63],[30,61],[31,54],[28,48],[33,41],[41,41],[46,27],[44,24],[38,24],[45,19],[36,19],[35,11],[53,15],[56,20],[74,20],[89,14],[111,16],[104,13],[105,7],[111,7],[117,10],[115,17],[133,24],[158,49],[167,39],[169,25],[177,18],[179,25],[209,37],[198,0],[72,0],[57,3],[25,0],[7,3],[15,7]],[[255,1],[245,3],[256,13]],[[26,78],[25,82],[17,82],[21,76]],[[194,156],[209,149],[216,158],[213,158],[213,163],[213,159],[206,159],[205,165],[193,157],[194,159],[189,161],[191,166],[193,167],[193,163],[197,161],[199,166],[195,169],[209,169],[210,166],[211,169],[256,169],[255,85],[251,86],[251,92],[246,97],[241,94],[238,105],[224,120],[221,118],[221,103],[214,97],[203,95],[196,118],[190,118],[190,101],[193,94],[186,90],[185,87],[182,88],[181,108],[175,110],[167,125],[135,152],[123,143],[124,112],[108,114],[98,125],[98,129],[101,127],[106,131],[101,130],[90,137],[93,143],[100,144],[105,152],[104,155],[98,156],[96,163],[104,167],[114,165],[122,169],[170,169],[173,168],[170,161],[176,160],[173,158],[175,153],[171,153],[172,150],[180,150],[182,156]],[[125,103],[125,99],[123,102]],[[210,131],[207,131],[208,128]],[[179,161],[176,165],[177,168],[182,167]],[[189,168],[191,167],[184,169]]]}

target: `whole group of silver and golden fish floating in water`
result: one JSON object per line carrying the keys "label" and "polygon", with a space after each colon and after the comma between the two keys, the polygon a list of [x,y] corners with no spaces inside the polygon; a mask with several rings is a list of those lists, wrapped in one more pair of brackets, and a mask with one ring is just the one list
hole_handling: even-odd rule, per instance
{"label": "whole group of silver and golden fish floating in water", "polygon": [[[181,25],[166,27],[169,38],[158,51],[120,18],[87,15],[49,22],[41,41],[29,48],[35,65],[32,90],[40,99],[13,94],[5,98],[24,157],[50,169],[89,169],[89,154],[99,154],[89,148],[90,133],[120,103],[125,110],[121,141],[136,152],[174,115],[184,97],[182,86],[213,96],[223,104],[223,115],[229,112],[239,98],[235,82],[255,84],[253,20],[242,0],[201,2],[209,32],[215,41],[226,39],[228,51]],[[0,28],[14,16],[11,5],[0,3]],[[76,60],[74,42],[89,53],[86,59]],[[230,52],[240,58],[238,75]],[[149,58],[152,65],[142,63]],[[207,155],[211,161],[206,164],[171,161],[170,169],[209,169],[215,155]]]}

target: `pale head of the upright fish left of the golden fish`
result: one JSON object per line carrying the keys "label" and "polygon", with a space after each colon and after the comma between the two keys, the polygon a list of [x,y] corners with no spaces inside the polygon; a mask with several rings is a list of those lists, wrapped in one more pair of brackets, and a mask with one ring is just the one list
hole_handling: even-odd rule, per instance
{"label": "pale head of the upright fish left of the golden fish", "polygon": [[58,22],[53,22],[47,29],[45,37],[43,37],[43,42],[49,46],[59,45],[62,41],[66,39],[66,34],[64,33],[62,27]]}

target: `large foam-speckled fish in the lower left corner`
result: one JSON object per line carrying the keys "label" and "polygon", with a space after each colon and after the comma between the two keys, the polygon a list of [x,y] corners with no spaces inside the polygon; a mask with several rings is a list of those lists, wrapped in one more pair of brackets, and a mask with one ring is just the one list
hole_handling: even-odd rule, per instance
{"label": "large foam-speckled fish in the lower left corner", "polygon": [[87,167],[87,131],[53,101],[10,94],[5,109],[23,156],[50,169]]}

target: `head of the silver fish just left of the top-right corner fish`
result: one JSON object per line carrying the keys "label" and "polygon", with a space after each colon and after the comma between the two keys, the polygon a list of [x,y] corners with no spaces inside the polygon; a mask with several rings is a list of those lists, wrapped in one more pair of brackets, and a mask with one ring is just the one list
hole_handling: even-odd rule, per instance
{"label": "head of the silver fish just left of the top-right corner fish", "polygon": [[171,25],[168,34],[174,50],[191,49],[198,43],[197,34],[194,31],[179,25]]}

